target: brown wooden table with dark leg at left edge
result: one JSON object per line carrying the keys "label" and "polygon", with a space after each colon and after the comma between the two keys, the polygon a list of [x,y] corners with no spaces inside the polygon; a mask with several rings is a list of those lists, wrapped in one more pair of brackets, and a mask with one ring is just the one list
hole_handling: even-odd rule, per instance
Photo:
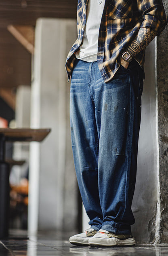
{"label": "brown wooden table with dark leg at left edge", "polygon": [[9,164],[5,161],[6,142],[42,142],[50,129],[0,129],[0,239],[8,237]]}

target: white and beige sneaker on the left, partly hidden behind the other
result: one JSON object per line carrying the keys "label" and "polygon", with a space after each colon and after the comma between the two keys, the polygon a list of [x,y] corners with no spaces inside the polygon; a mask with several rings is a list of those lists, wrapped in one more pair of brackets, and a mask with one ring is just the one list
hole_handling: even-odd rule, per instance
{"label": "white and beige sneaker on the left, partly hidden behind the other", "polygon": [[73,235],[69,238],[69,242],[74,245],[88,245],[90,237],[93,237],[97,233],[93,228],[88,228],[84,233]]}

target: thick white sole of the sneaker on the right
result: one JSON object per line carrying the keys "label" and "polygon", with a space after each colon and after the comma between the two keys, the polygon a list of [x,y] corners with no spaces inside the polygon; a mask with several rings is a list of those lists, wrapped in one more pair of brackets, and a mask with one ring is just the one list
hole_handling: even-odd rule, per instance
{"label": "thick white sole of the sneaker on the right", "polygon": [[90,246],[102,246],[102,247],[112,247],[112,246],[133,246],[135,245],[135,239],[132,238],[128,238],[128,239],[124,239],[124,240],[120,240],[118,238],[115,237],[111,237],[111,238],[100,238],[99,241],[97,241],[97,238],[92,238],[92,241],[89,241],[89,245]]}

